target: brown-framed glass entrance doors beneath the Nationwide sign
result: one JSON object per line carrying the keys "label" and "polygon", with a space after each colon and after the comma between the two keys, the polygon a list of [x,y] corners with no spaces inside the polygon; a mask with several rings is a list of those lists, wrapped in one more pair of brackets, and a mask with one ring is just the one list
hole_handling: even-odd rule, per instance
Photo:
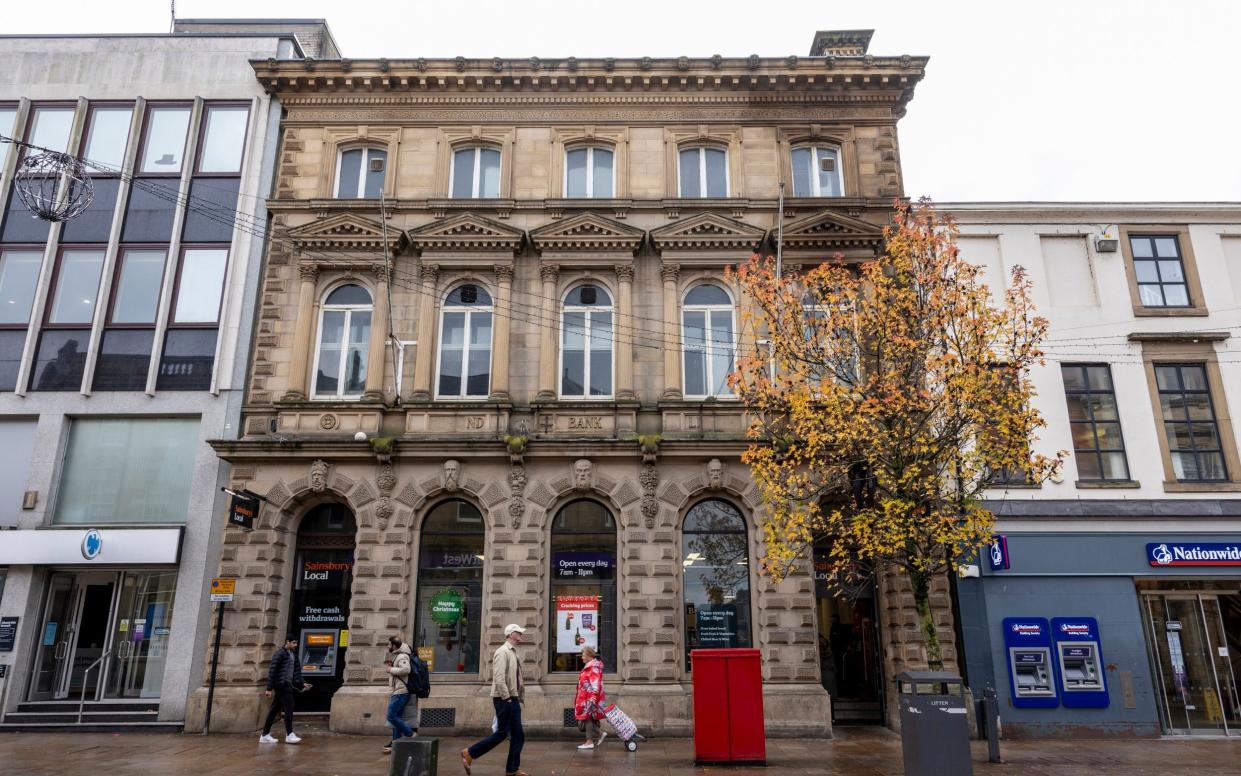
{"label": "brown-framed glass entrance doors beneath the Nationwide sign", "polygon": [[1230,657],[1235,637],[1230,639],[1225,627],[1220,596],[1148,593],[1143,598],[1164,730],[1237,734],[1241,702]]}

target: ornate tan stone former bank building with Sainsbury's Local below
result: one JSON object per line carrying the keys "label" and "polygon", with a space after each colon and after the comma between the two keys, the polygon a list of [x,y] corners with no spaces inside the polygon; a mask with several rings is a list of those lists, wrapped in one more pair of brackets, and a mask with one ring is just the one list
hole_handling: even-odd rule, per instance
{"label": "ornate tan stone former bank building with Sainsbury's Local below", "polygon": [[[254,729],[268,658],[309,622],[340,731],[382,729],[395,632],[434,659],[423,729],[486,728],[509,622],[529,628],[540,731],[565,729],[565,656],[591,639],[609,694],[658,733],[691,730],[695,644],[761,649],[769,734],[830,734],[825,667],[865,673],[882,716],[891,675],[923,661],[912,600],[881,581],[846,661],[812,559],[781,585],[761,574],[746,417],[724,382],[761,346],[725,268],[771,246],[781,184],[787,266],[874,256],[903,194],[896,124],[926,58],[869,40],[820,32],[809,57],[253,62],[285,117],[242,433],[216,449],[267,503],[225,535],[238,595],[213,729]],[[457,533],[433,528],[444,509]],[[701,570],[691,550],[716,551],[714,529],[740,550]],[[446,579],[464,592],[419,592]],[[561,617],[583,597],[589,617]]]}

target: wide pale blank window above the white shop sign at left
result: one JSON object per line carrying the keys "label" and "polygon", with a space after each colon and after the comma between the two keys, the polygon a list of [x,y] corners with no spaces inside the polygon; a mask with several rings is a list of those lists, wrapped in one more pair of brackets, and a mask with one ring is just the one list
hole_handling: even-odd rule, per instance
{"label": "wide pale blank window above the white shop sign at left", "polygon": [[184,524],[197,451],[197,418],[74,418],[53,521]]}

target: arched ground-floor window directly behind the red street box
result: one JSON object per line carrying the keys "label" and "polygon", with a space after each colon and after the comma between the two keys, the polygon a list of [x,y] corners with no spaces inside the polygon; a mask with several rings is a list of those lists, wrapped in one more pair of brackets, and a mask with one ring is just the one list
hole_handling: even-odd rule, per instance
{"label": "arched ground-floor window directly behind the red street box", "polygon": [[685,667],[690,652],[748,647],[750,545],[746,519],[720,499],[699,502],[681,529]]}

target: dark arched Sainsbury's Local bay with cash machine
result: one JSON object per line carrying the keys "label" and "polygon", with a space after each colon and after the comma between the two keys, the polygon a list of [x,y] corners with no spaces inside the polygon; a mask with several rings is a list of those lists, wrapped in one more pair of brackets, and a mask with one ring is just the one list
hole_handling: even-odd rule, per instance
{"label": "dark arched Sainsbury's Local bay with cash machine", "polygon": [[311,508],[298,528],[288,632],[298,637],[302,673],[311,684],[298,698],[299,710],[330,710],[344,683],[356,530],[344,504]]}

